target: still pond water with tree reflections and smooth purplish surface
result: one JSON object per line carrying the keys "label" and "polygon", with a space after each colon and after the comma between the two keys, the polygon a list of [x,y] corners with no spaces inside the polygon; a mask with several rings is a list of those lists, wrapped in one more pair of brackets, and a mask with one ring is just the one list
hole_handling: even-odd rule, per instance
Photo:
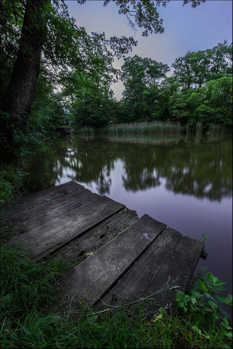
{"label": "still pond water with tree reflections and smooth purplish surface", "polygon": [[[28,159],[28,190],[73,180],[203,241],[207,266],[232,293],[232,135],[51,137]],[[30,178],[30,180],[29,180]]]}

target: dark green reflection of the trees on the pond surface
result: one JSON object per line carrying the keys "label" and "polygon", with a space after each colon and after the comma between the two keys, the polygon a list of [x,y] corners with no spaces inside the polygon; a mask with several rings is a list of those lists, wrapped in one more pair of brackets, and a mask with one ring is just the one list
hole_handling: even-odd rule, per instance
{"label": "dark green reflection of the trees on the pond surface", "polygon": [[28,189],[36,192],[54,186],[66,173],[70,180],[94,182],[100,194],[109,194],[111,173],[120,159],[127,191],[159,186],[163,178],[166,189],[174,193],[221,201],[232,196],[231,158],[230,136],[54,138],[46,153],[28,159]]}

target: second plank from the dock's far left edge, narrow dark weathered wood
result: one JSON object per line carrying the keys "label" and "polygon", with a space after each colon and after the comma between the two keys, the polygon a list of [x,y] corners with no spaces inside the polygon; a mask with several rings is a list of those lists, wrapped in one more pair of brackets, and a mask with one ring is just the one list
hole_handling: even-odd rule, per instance
{"label": "second plank from the dock's far left edge, narrow dark weathered wood", "polygon": [[34,207],[31,210],[27,210],[24,214],[14,215],[12,218],[16,218],[18,222],[15,221],[15,224],[12,226],[12,234],[17,235],[19,231],[22,233],[32,230],[46,222],[48,223],[54,218],[64,215],[88,202],[94,201],[98,196],[98,194],[92,193],[88,189],[80,189],[74,193],[62,196],[60,199],[54,200],[50,205],[46,205],[46,209],[42,204],[39,205],[38,209]]}

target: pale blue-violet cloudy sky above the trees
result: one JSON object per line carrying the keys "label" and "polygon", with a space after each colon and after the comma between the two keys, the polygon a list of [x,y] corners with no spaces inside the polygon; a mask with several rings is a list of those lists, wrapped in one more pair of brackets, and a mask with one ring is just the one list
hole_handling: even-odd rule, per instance
{"label": "pale blue-violet cloudy sky above the trees", "polygon": [[[176,58],[184,56],[188,51],[211,49],[220,42],[227,40],[232,43],[232,1],[206,0],[196,8],[191,3],[182,6],[182,0],[172,0],[166,7],[160,6],[158,12],[163,19],[162,34],[149,34],[142,37],[142,29],[134,33],[127,25],[126,16],[118,14],[118,6],[113,1],[103,7],[103,0],[87,0],[83,5],[76,0],[65,0],[70,17],[74,17],[78,27],[84,27],[91,35],[92,31],[104,32],[106,38],[111,36],[134,36],[138,41],[126,57],[135,54],[167,64],[169,67]],[[124,60],[117,58],[115,68],[120,68]],[[172,75],[173,69],[167,73]],[[123,83],[112,85],[115,97],[121,99]]]}

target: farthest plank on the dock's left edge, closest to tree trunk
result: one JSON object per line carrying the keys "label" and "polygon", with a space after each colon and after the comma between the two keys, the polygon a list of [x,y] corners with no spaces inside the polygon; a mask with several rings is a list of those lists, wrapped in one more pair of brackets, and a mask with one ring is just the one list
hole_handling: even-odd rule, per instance
{"label": "farthest plank on the dock's left edge, closest to tree trunk", "polygon": [[6,206],[6,210],[12,212],[12,214],[16,214],[20,211],[26,211],[35,206],[41,205],[42,203],[44,203],[44,205],[48,205],[50,201],[45,201],[45,199],[55,200],[60,198],[60,196],[72,193],[81,188],[84,188],[83,185],[70,181],[49,189],[42,190],[41,192],[13,200],[9,203],[9,205]]}

